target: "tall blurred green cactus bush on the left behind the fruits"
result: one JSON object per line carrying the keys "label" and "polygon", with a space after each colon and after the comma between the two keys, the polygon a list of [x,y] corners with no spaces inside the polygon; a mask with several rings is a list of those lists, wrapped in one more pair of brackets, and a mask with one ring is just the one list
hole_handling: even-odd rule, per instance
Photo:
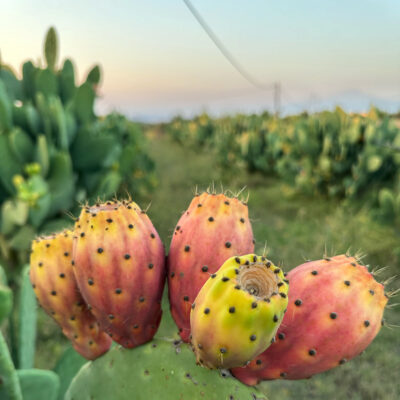
{"label": "tall blurred green cactus bush on the left behind the fruits", "polygon": [[58,66],[50,28],[44,65],[27,61],[18,78],[0,62],[0,261],[26,261],[39,232],[65,228],[79,202],[155,184],[140,125],[94,112],[100,68],[77,85],[74,64]]}

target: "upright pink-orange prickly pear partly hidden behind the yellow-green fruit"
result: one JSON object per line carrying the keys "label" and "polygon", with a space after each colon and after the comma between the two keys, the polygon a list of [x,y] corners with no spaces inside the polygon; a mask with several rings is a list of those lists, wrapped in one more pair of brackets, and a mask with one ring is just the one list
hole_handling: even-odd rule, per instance
{"label": "upright pink-orange prickly pear partly hidden behind the yellow-green fruit", "polygon": [[248,207],[237,198],[202,193],[180,218],[168,255],[172,316],[185,342],[190,306],[210,274],[235,255],[254,251]]}

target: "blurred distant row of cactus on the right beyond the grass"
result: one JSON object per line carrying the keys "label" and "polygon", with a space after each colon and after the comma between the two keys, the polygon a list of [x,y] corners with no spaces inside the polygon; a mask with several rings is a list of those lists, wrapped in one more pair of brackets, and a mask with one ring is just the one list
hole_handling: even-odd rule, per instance
{"label": "blurred distant row of cactus on the right beyond the grass", "polygon": [[268,113],[219,119],[203,114],[175,118],[166,130],[183,144],[212,149],[226,170],[275,175],[307,194],[362,196],[378,215],[390,220],[395,211],[400,217],[387,200],[388,192],[400,194],[400,126],[375,108],[365,115],[337,108],[282,119]]}

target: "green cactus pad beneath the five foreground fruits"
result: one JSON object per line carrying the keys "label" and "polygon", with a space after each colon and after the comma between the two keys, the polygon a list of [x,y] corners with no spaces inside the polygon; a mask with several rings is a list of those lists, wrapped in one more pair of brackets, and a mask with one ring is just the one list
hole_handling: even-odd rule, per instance
{"label": "green cactus pad beneath the five foreground fruits", "polygon": [[153,340],[134,350],[115,347],[85,364],[65,400],[266,400],[226,372],[196,366],[188,345]]}

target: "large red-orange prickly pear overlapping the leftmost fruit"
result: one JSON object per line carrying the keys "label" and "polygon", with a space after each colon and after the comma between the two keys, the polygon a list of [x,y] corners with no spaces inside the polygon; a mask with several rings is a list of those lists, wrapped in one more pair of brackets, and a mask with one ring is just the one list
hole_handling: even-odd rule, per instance
{"label": "large red-orange prickly pear overlapping the leftmost fruit", "polygon": [[82,209],[75,223],[74,272],[100,327],[124,347],[148,342],[161,320],[165,253],[134,202]]}

